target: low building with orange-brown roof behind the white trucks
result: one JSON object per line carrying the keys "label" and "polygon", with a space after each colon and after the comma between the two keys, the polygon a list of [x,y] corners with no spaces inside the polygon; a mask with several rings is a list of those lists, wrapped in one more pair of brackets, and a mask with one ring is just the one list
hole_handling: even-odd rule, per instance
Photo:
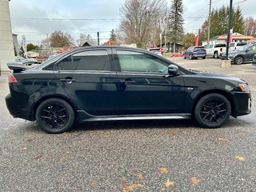
{"label": "low building with orange-brown roof behind the white trucks", "polygon": [[[226,43],[226,34],[215,36],[214,38],[210,38],[210,44],[217,44],[217,43]],[[252,43],[254,42],[253,36],[246,36],[238,33],[234,33],[232,35],[232,42],[247,42]],[[207,41],[202,42],[202,46],[207,45]]]}

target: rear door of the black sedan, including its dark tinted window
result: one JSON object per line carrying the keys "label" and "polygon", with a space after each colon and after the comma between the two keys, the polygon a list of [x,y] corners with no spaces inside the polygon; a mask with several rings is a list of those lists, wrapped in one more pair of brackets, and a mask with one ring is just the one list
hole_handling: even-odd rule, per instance
{"label": "rear door of the black sedan, including its dark tinted window", "polygon": [[[72,55],[73,70],[55,73],[79,109],[91,115],[118,113],[118,78],[109,54],[110,49],[80,51]],[[58,69],[62,66],[57,64]]]}

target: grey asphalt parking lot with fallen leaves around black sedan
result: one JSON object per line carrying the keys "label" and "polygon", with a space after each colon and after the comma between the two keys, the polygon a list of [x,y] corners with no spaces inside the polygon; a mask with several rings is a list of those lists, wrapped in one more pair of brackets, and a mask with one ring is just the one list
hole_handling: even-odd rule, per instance
{"label": "grey asphalt parking lot with fallen leaves around black sedan", "polygon": [[253,112],[221,129],[193,121],[87,122],[46,134],[6,109],[0,77],[0,191],[256,191],[256,67],[170,60],[250,84]]}

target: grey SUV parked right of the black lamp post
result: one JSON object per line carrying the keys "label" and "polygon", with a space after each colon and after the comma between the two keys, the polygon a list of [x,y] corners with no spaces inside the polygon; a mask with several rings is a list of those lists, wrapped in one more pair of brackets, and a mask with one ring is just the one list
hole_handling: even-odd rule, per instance
{"label": "grey SUV parked right of the black lamp post", "polygon": [[243,62],[252,62],[256,54],[256,44],[250,44],[246,46],[240,46],[237,51],[230,52],[228,58],[234,64],[242,64]]}

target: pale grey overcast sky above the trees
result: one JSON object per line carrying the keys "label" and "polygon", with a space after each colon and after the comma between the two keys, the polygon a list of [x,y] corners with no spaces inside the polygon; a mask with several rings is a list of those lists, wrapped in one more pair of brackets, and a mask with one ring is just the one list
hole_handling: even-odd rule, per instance
{"label": "pale grey overcast sky above the trees", "polygon": [[[27,42],[36,44],[41,43],[42,39],[54,30],[67,32],[74,39],[78,39],[81,33],[90,34],[96,39],[99,31],[102,43],[110,38],[110,30],[117,30],[121,18],[119,9],[124,2],[125,0],[11,0],[12,30],[14,34],[18,34],[19,41],[24,34]],[[256,18],[255,0],[234,0],[233,2],[234,6],[240,6],[244,17]],[[230,0],[212,0],[213,8],[227,6],[229,3]],[[207,18],[209,0],[183,0],[183,5],[185,32],[194,33]],[[38,18],[61,20],[49,21]],[[68,20],[79,18],[98,20]]]}

